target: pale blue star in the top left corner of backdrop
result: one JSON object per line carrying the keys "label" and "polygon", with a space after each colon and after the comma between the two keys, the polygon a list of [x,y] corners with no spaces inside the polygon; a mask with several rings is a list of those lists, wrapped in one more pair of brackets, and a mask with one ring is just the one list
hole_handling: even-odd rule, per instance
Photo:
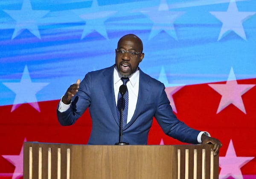
{"label": "pale blue star in the top left corner of backdrop", "polygon": [[40,18],[49,11],[32,10],[29,0],[24,0],[20,10],[3,10],[16,20],[15,30],[12,34],[12,39],[20,35],[23,30],[28,29],[33,35],[41,39],[38,31],[38,23]]}

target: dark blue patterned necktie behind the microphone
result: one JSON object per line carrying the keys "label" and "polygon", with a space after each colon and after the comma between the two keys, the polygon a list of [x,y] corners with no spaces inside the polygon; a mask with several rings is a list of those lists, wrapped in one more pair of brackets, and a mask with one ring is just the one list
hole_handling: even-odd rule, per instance
{"label": "dark blue patterned necktie behind the microphone", "polygon": [[[127,81],[129,81],[129,78],[121,78],[123,81],[123,84],[126,86]],[[118,100],[117,100],[117,110],[119,119],[121,120],[121,109],[122,109],[122,95],[119,92],[118,93]],[[127,115],[128,115],[128,90],[126,90],[124,97],[123,97],[123,115],[122,115],[122,129],[125,128],[125,125],[127,123]]]}

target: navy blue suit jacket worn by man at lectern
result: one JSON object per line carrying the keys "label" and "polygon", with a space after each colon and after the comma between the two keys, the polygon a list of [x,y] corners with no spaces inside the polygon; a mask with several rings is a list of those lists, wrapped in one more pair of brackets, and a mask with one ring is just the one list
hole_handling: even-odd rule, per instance
{"label": "navy blue suit jacket worn by man at lectern", "polygon": [[[119,141],[119,118],[113,90],[114,66],[87,73],[69,110],[63,113],[57,110],[60,124],[71,125],[89,107],[92,131],[88,144],[115,144]],[[186,143],[198,143],[200,131],[176,118],[164,89],[163,83],[140,70],[138,101],[131,121],[123,130],[124,142],[147,144],[154,116],[168,136]]]}

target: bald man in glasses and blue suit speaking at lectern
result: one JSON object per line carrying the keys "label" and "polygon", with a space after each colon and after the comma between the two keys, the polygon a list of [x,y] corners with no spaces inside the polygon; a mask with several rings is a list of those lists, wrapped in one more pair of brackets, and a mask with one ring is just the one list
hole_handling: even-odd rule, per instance
{"label": "bald man in glasses and blue suit speaking at lectern", "polygon": [[[71,125],[89,107],[92,131],[88,144],[115,144],[119,141],[120,109],[118,93],[122,84],[128,89],[123,141],[147,144],[153,117],[166,135],[186,143],[214,144],[214,155],[221,147],[218,139],[205,131],[188,127],[172,112],[163,83],[145,74],[138,66],[144,58],[143,43],[136,35],[120,38],[116,63],[108,68],[89,72],[71,85],[58,105],[61,125]],[[127,79],[127,82],[123,82]],[[125,92],[126,93],[126,92]],[[125,110],[125,109],[124,109]]]}

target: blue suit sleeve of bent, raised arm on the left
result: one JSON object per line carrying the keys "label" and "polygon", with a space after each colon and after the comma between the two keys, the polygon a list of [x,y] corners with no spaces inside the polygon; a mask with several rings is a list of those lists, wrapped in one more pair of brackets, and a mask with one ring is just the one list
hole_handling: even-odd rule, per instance
{"label": "blue suit sleeve of bent, raised arm on the left", "polygon": [[79,90],[72,98],[70,108],[61,113],[57,109],[58,121],[61,125],[72,125],[84,113],[87,107],[90,106],[90,75],[85,75],[79,85]]}

